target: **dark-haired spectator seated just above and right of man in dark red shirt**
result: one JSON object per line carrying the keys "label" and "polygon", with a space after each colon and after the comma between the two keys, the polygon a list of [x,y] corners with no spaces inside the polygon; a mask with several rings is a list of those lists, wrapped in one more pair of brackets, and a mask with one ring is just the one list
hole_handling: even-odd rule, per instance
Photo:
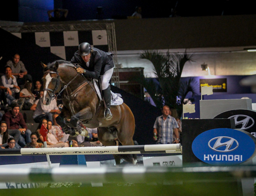
{"label": "dark-haired spectator seated just above and right of man in dark red shirt", "polygon": [[30,80],[26,80],[24,84],[24,89],[20,91],[19,97],[22,99],[22,106],[20,106],[20,110],[30,110],[31,106],[34,104],[35,96],[31,91],[32,82]]}

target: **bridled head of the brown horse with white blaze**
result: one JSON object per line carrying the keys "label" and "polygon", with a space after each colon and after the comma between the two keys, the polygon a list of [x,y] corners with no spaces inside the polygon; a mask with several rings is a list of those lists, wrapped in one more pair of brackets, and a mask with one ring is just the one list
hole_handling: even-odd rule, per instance
{"label": "bridled head of the brown horse with white blaze", "polygon": [[57,72],[59,63],[55,63],[46,66],[46,64],[41,63],[44,68],[44,76],[42,77],[42,88],[44,90],[44,95],[41,98],[42,104],[49,105],[51,100],[55,98],[55,94],[61,89],[60,77]]}

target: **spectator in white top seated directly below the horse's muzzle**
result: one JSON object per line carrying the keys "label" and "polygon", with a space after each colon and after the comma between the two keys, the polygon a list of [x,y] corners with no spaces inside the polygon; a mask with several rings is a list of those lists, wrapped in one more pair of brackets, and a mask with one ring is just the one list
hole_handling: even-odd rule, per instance
{"label": "spectator in white top seated directly below the horse's muzzle", "polygon": [[[41,92],[40,92],[41,93]],[[44,105],[37,99],[32,105],[31,110],[35,108],[33,119],[36,123],[39,123],[42,118],[49,119],[54,122],[54,125],[58,126],[56,117],[60,114],[60,110],[57,106],[56,99],[52,100],[49,105]],[[36,107],[35,107],[36,104]]]}

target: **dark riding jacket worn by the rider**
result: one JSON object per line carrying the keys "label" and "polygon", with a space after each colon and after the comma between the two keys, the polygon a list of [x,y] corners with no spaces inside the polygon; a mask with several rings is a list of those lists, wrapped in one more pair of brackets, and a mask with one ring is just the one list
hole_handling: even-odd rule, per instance
{"label": "dark riding jacket worn by the rider", "polygon": [[104,52],[97,48],[92,48],[91,58],[89,61],[89,67],[86,62],[83,61],[78,51],[75,52],[71,59],[71,63],[79,63],[80,66],[86,70],[84,76],[98,79],[100,75],[103,75],[106,71],[114,68],[114,62],[112,59],[112,53]]}

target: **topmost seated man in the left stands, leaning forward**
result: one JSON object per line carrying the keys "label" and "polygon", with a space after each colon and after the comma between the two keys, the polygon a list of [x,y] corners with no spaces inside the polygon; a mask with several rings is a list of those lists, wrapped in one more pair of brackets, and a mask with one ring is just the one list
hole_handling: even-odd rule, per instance
{"label": "topmost seated man in the left stands, leaning forward", "polygon": [[28,74],[24,63],[19,60],[19,54],[15,54],[12,60],[7,61],[6,67],[10,67],[12,70],[12,75],[16,77],[18,86],[23,89],[23,85],[25,84],[26,80],[30,80],[32,82],[31,75]]}

